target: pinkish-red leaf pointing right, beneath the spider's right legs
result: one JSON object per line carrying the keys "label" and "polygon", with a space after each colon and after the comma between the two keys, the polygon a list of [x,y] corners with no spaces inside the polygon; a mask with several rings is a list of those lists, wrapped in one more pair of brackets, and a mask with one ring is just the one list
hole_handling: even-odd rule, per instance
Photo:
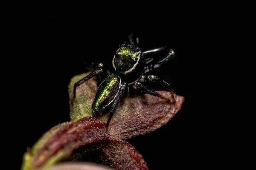
{"label": "pinkish-red leaf pointing right, beneath the spider's right legs", "polygon": [[[170,97],[167,91],[158,91]],[[181,109],[183,96],[175,94],[176,103],[168,103],[159,97],[149,94],[125,98],[113,115],[109,133],[126,139],[138,136],[165,125]]]}

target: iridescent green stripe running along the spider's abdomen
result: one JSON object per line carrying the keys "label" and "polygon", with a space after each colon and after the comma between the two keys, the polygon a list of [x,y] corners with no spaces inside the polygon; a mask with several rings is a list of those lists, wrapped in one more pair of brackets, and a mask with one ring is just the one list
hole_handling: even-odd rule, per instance
{"label": "iridescent green stripe running along the spider's abdomen", "polygon": [[94,108],[97,110],[99,109],[99,105],[107,98],[107,96],[110,94],[113,85],[116,83],[117,77],[114,77],[111,79],[106,87],[103,89],[102,93],[99,95],[99,98],[95,102]]}

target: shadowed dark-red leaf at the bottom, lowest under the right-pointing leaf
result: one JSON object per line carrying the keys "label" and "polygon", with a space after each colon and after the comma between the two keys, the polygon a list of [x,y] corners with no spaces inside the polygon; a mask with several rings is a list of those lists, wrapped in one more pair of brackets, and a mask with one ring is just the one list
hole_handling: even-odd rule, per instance
{"label": "shadowed dark-red leaf at the bottom, lowest under the right-pointing leaf", "polygon": [[105,139],[77,150],[70,161],[90,161],[118,170],[147,170],[143,156],[125,141]]}

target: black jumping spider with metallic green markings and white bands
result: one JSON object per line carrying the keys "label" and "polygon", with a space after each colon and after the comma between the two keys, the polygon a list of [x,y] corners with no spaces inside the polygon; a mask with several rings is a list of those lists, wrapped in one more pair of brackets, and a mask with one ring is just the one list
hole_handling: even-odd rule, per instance
{"label": "black jumping spider with metallic green markings and white bands", "polygon": [[[76,88],[79,87],[79,85],[96,75],[99,75],[100,79],[103,79],[91,106],[92,114],[95,116],[101,115],[102,111],[110,108],[108,122],[102,135],[108,130],[108,125],[119,104],[119,100],[124,94],[125,88],[127,88],[129,93],[129,86],[140,90],[144,94],[158,96],[166,100],[166,102],[171,102],[170,99],[161,96],[156,91],[148,89],[141,82],[148,81],[159,83],[164,88],[171,91],[172,102],[175,103],[172,85],[160,77],[154,75],[146,76],[148,72],[152,71],[154,68],[160,67],[164,62],[174,57],[175,52],[166,46],[153,48],[148,51],[140,51],[138,43],[139,39],[135,38],[134,34],[131,33],[128,37],[128,42],[119,45],[119,49],[114,54],[112,60],[113,72],[109,71],[102,63],[87,65],[90,68],[95,68],[95,70],[74,85],[71,103],[73,103],[76,98]],[[155,57],[156,55],[154,55],[161,53],[165,55],[162,57]]]}

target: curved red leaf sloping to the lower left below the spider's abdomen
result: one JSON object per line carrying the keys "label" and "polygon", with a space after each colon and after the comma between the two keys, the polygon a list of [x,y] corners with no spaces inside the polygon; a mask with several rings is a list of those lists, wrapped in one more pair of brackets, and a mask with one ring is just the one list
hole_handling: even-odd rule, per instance
{"label": "curved red leaf sloping to the lower left below the spider's abdomen", "polygon": [[86,144],[102,140],[101,133],[105,125],[106,123],[102,122],[102,119],[93,116],[84,117],[64,125],[36,152],[32,166],[40,167],[64,147],[70,147],[72,151]]}

